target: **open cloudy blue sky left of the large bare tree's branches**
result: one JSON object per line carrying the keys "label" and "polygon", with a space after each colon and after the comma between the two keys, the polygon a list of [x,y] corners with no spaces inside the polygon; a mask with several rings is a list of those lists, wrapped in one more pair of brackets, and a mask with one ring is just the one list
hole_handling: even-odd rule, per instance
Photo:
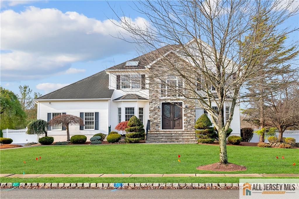
{"label": "open cloudy blue sky left of the large bare tree's branches", "polygon": [[[134,1],[109,1],[142,25]],[[46,94],[138,56],[107,1],[1,1],[1,86]],[[111,22],[111,20],[114,20]],[[298,16],[287,25],[298,27]],[[298,40],[298,32],[291,39]]]}

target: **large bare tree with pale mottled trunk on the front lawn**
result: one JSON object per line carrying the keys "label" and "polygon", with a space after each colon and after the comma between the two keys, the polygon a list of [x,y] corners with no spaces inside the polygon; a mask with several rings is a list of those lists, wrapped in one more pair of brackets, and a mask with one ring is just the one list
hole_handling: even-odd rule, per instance
{"label": "large bare tree with pale mottled trunk on the front lawn", "polygon": [[[281,6],[280,1],[141,1],[136,3],[136,11],[147,16],[144,26],[136,26],[115,12],[121,21],[116,25],[126,30],[132,37],[129,42],[137,43],[139,51],[156,49],[144,57],[144,62],[149,63],[150,95],[184,98],[190,104],[188,108],[200,107],[211,115],[219,132],[219,162],[226,164],[225,132],[236,104],[248,98],[243,88],[273,74],[278,51],[285,51],[281,62],[291,61],[298,54],[295,43],[289,44],[291,49],[273,47],[277,40],[298,30],[279,27],[298,11],[298,7],[290,11],[292,3],[287,1]],[[265,16],[269,20],[268,35],[260,37],[259,24]],[[225,122],[227,101],[230,110]]]}

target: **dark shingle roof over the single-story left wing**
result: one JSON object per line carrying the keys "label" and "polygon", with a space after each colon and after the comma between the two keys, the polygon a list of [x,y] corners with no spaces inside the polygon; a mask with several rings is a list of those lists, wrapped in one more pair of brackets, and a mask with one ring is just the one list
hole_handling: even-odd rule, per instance
{"label": "dark shingle roof over the single-story left wing", "polygon": [[98,72],[56,91],[43,95],[39,99],[100,99],[111,98],[113,91],[108,88],[109,75]]}

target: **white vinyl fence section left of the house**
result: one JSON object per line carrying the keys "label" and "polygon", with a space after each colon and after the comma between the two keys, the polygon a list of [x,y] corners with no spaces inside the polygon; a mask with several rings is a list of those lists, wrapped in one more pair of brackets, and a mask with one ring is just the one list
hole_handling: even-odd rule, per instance
{"label": "white vinyl fence section left of the house", "polygon": [[23,129],[3,129],[3,137],[13,139],[12,144],[24,144],[28,142],[38,142],[37,135],[26,134],[27,128]]}

